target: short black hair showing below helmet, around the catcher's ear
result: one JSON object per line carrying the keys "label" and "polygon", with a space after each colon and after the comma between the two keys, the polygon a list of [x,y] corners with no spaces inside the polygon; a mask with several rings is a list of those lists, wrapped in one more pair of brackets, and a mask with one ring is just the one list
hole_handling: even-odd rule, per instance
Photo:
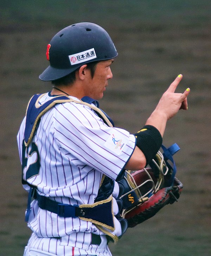
{"label": "short black hair showing below helmet, around the catcher's ear", "polygon": [[[92,78],[95,75],[95,70],[98,62],[100,61],[93,61],[93,62],[87,63],[87,69],[90,70]],[[51,83],[55,86],[72,84],[73,82],[76,81],[76,71],[79,69],[80,67],[64,77],[51,81]]]}

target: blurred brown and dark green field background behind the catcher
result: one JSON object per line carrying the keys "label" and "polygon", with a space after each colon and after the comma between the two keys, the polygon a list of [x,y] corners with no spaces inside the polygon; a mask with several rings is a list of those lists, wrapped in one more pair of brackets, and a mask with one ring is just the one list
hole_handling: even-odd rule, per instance
{"label": "blurred brown and dark green field background behind the catcher", "polygon": [[177,142],[178,203],[128,229],[114,256],[211,255],[211,2],[201,1],[11,1],[0,3],[0,255],[21,256],[31,231],[24,221],[16,135],[27,102],[51,89],[39,74],[46,45],[77,22],[105,28],[119,56],[101,100],[115,125],[136,132],[180,73],[178,92],[191,88],[188,111],[167,124],[164,144]]}

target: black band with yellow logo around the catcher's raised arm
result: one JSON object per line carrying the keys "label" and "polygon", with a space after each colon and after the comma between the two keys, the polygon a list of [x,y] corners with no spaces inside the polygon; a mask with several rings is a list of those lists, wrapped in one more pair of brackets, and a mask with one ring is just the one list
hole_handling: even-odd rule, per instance
{"label": "black band with yellow logo around the catcher's raised arm", "polygon": [[145,125],[134,135],[136,137],[136,146],[141,149],[148,164],[160,149],[162,144],[162,136],[158,129],[152,125]]}

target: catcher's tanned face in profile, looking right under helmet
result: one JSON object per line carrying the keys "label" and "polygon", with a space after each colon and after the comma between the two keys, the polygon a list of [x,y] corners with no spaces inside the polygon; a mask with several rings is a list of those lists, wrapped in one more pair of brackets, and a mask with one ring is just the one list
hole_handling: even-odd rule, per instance
{"label": "catcher's tanned face in profile, looking right under helmet", "polygon": [[113,77],[110,69],[110,65],[113,61],[114,59],[98,62],[93,78],[89,72],[89,77],[87,77],[87,84],[85,88],[86,96],[89,96],[95,100],[102,99],[103,92],[106,90],[108,85],[108,79]]}

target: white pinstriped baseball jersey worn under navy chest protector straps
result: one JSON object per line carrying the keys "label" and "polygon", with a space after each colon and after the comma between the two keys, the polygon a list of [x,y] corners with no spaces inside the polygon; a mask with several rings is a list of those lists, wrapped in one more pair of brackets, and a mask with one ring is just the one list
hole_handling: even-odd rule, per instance
{"label": "white pinstriped baseball jersey worn under navy chest protector straps", "polygon": [[[49,99],[52,99],[50,93],[45,94],[39,101],[40,105]],[[21,160],[24,130],[25,119],[17,137]],[[118,144],[118,141],[122,143]],[[37,186],[43,196],[77,205],[94,203],[102,175],[115,180],[135,147],[134,135],[109,127],[90,107],[75,102],[60,103],[48,110],[40,118],[32,142],[38,147],[40,169],[38,175],[30,177],[27,182]],[[117,146],[114,148],[112,144]],[[37,161],[36,154],[30,157],[31,163]],[[28,185],[24,188],[29,190]],[[113,197],[118,192],[116,184]],[[116,214],[115,200],[113,204]],[[84,249],[90,244],[90,233],[104,234],[89,221],[63,218],[40,209],[36,200],[31,203],[28,226],[39,237],[62,237],[63,245]],[[116,218],[113,233],[121,234]]]}

